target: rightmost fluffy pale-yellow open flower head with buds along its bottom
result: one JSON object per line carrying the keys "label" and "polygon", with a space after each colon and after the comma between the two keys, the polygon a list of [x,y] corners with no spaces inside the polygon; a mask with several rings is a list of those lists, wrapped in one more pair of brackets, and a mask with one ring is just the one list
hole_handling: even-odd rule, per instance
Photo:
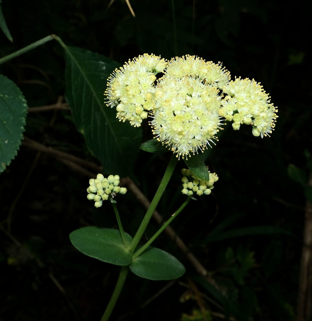
{"label": "rightmost fluffy pale-yellow open flower head with buds along its bottom", "polygon": [[276,112],[270,103],[270,96],[254,79],[236,78],[223,88],[228,95],[222,100],[219,114],[226,120],[233,121],[233,128],[239,129],[241,124],[253,125],[255,136],[270,136],[275,127]]}

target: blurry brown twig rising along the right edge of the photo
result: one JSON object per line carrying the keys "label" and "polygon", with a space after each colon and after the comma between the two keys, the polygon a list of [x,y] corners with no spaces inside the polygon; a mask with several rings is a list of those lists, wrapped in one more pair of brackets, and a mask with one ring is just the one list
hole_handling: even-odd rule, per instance
{"label": "blurry brown twig rising along the right edge of the photo", "polygon": [[[312,186],[310,172],[308,186]],[[312,286],[312,203],[307,200],[301,252],[299,289],[297,302],[297,321],[308,321],[311,316]]]}

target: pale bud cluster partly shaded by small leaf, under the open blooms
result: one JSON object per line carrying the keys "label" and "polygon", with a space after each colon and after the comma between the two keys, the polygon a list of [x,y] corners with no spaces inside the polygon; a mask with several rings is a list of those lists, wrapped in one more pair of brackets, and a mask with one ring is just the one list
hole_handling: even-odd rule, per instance
{"label": "pale bud cluster partly shaded by small leaf, under the open blooms", "polygon": [[[207,167],[208,169],[208,167]],[[209,172],[209,180],[205,181],[196,176],[190,169],[182,169],[182,183],[183,190],[182,194],[192,196],[196,193],[198,196],[203,194],[209,195],[213,189],[213,183],[215,183],[219,178],[216,173]]]}

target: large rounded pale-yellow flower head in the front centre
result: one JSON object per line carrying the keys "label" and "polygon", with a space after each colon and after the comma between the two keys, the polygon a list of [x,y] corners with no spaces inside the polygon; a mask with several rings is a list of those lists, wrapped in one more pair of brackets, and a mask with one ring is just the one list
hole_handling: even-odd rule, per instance
{"label": "large rounded pale-yellow flower head in the front centre", "polygon": [[163,77],[156,86],[155,108],[150,122],[158,141],[177,153],[190,156],[203,151],[220,129],[219,90],[201,79]]}

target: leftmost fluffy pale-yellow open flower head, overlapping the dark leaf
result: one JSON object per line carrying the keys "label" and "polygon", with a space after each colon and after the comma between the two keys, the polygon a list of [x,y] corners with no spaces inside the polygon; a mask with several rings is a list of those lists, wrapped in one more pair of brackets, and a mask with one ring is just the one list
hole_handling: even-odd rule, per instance
{"label": "leftmost fluffy pale-yellow open flower head, overlapping the dark leaf", "polygon": [[144,54],[128,61],[108,78],[106,105],[115,107],[119,121],[141,126],[148,111],[154,108],[156,74],[167,65],[160,56]]}

